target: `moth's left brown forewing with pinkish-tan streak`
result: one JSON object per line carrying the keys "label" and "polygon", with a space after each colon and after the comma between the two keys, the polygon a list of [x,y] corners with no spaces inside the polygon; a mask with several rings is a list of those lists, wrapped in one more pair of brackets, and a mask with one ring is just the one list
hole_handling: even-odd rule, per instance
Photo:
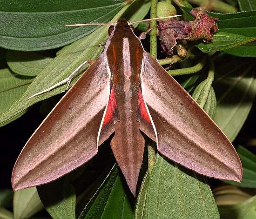
{"label": "moth's left brown forewing with pinkish-tan streak", "polygon": [[28,140],[13,168],[14,191],[71,172],[91,159],[115,131],[110,119],[105,121],[107,128],[102,127],[110,95],[105,57],[94,61]]}

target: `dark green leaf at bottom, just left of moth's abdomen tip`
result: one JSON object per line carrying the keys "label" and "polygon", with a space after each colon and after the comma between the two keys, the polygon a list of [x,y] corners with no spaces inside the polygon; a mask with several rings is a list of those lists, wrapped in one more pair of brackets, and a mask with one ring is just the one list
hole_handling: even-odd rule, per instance
{"label": "dark green leaf at bottom, just left of moth's abdomen tip", "polygon": [[112,168],[79,216],[79,219],[96,218],[133,219],[133,207],[118,174],[117,165]]}

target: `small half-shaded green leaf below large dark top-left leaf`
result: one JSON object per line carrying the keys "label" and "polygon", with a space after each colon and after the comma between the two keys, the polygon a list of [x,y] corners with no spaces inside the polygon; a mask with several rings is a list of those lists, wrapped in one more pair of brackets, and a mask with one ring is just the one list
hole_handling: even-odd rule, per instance
{"label": "small half-shaded green leaf below large dark top-left leaf", "polygon": [[36,76],[53,58],[38,52],[21,52],[9,50],[6,55],[7,64],[17,74]]}

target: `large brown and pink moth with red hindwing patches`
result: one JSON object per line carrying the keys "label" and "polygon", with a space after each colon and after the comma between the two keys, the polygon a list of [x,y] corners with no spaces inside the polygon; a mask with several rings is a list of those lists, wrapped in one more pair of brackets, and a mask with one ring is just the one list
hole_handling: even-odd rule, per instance
{"label": "large brown and pink moth with red hindwing patches", "polygon": [[21,151],[13,190],[54,181],[110,145],[135,195],[145,139],[196,173],[240,182],[242,165],[229,139],[143,48],[125,19],[109,27],[103,53],[63,96]]}

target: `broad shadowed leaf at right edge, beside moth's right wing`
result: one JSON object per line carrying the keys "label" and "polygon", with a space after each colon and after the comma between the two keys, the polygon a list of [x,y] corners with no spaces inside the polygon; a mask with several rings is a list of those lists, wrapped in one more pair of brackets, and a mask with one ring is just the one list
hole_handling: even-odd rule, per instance
{"label": "broad shadowed leaf at right edge, beside moth's right wing", "polygon": [[236,138],[255,100],[255,72],[254,61],[243,58],[223,59],[216,67],[214,120],[230,141]]}

